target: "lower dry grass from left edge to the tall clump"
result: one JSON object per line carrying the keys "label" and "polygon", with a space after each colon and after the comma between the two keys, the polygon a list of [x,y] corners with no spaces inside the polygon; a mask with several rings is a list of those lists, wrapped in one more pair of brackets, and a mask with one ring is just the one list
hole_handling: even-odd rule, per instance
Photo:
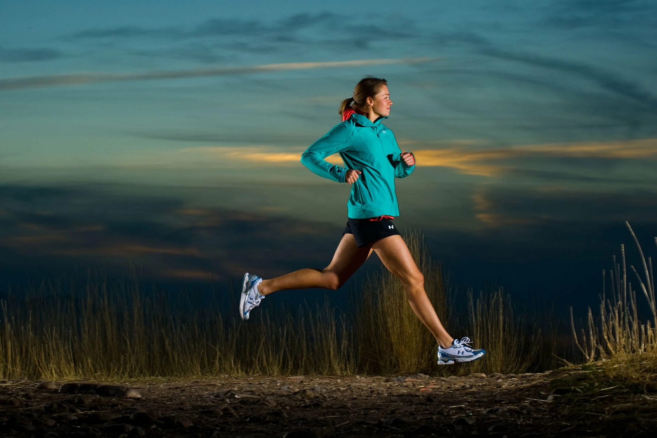
{"label": "lower dry grass from left edge to the tall clump", "polygon": [[[63,379],[217,376],[221,374],[353,374],[351,344],[336,332],[325,303],[299,320],[270,312],[248,323],[225,320],[212,304],[192,315],[171,313],[161,293],[143,297],[90,287],[86,297],[3,303],[0,375]],[[12,309],[12,311],[9,311]],[[284,312],[284,309],[279,309]],[[36,320],[32,315],[42,315]],[[45,317],[43,315],[46,315]],[[342,319],[344,320],[344,318]]]}

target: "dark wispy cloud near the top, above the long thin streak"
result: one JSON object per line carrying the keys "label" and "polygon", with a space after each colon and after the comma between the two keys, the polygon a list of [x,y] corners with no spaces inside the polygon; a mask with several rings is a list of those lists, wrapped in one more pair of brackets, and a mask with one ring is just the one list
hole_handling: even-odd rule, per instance
{"label": "dark wispy cloud near the top, above the long thin streak", "polygon": [[[386,26],[375,24],[386,22]],[[62,35],[59,39],[66,42],[104,45],[107,41],[131,41],[135,39],[161,39],[167,41],[202,40],[208,41],[208,52],[203,55],[213,58],[215,48],[235,52],[271,54],[290,51],[299,55],[300,51],[334,50],[336,52],[359,49],[367,51],[372,45],[396,41],[399,39],[422,39],[417,32],[415,20],[373,11],[367,19],[359,20],[350,14],[335,14],[323,11],[316,14],[299,12],[285,16],[273,22],[265,20],[242,20],[240,18],[210,18],[204,22],[186,28],[184,26],[167,26],[148,28],[145,26],[117,26],[114,28],[88,29]],[[314,35],[329,35],[317,38]],[[348,37],[330,37],[330,35],[348,35]],[[374,41],[371,35],[376,35]],[[179,51],[177,48],[171,51]],[[166,51],[130,51],[133,55],[147,57],[163,56]],[[182,53],[178,56],[181,56]],[[203,58],[198,58],[205,62]]]}

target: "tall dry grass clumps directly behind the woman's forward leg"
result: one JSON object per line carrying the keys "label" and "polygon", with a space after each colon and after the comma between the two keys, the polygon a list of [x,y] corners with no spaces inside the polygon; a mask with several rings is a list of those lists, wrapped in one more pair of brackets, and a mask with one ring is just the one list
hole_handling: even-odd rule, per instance
{"label": "tall dry grass clumps directly behind the woman's forward leg", "polygon": [[[529,334],[518,330],[524,324],[514,317],[510,297],[501,290],[493,294],[482,292],[473,299],[468,292],[466,324],[459,324],[450,313],[449,281],[443,277],[442,265],[432,261],[422,237],[411,232],[404,238],[420,272],[424,273],[424,290],[434,305],[438,318],[450,334],[468,334],[474,347],[486,348],[486,356],[470,364],[439,366],[436,364],[438,343],[422,321],[415,315],[406,299],[401,282],[387,269],[369,278],[363,290],[361,314],[363,321],[358,344],[361,348],[361,367],[367,372],[445,372],[470,374],[472,372],[522,373],[537,362],[541,333]],[[457,336],[461,338],[460,336]]]}

